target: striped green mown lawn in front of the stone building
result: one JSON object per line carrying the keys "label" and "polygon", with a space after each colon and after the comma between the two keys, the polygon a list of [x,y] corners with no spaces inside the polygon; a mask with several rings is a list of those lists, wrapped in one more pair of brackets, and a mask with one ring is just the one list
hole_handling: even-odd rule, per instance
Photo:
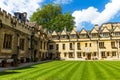
{"label": "striped green mown lawn in front of the stone building", "polygon": [[0,80],[120,80],[120,61],[53,61],[1,72]]}

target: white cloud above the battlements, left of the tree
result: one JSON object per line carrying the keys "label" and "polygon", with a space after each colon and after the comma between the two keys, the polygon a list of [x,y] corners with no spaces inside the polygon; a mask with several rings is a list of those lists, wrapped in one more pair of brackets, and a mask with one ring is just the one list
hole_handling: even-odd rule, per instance
{"label": "white cloud above the battlements, left of the tree", "polygon": [[13,14],[14,12],[27,12],[28,17],[40,8],[43,0],[0,0],[0,8]]}

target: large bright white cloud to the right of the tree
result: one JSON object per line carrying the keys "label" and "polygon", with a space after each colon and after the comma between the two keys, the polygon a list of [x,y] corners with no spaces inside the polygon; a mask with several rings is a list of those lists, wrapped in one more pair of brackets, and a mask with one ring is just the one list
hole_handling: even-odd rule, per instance
{"label": "large bright white cloud to the right of the tree", "polygon": [[120,12],[120,0],[111,0],[105,5],[102,12],[98,12],[97,8],[89,7],[83,10],[76,10],[72,16],[75,17],[77,29],[80,29],[83,22],[90,22],[91,24],[99,24],[108,22]]}

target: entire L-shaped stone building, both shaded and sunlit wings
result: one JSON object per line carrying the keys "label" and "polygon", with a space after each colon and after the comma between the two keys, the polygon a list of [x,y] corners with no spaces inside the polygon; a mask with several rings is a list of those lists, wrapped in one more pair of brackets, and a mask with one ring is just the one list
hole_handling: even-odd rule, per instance
{"label": "entire L-shaped stone building, both shaded and sunlit wings", "polygon": [[29,22],[26,13],[15,16],[0,9],[0,60],[116,60],[120,57],[120,23],[95,25],[71,32],[53,31]]}

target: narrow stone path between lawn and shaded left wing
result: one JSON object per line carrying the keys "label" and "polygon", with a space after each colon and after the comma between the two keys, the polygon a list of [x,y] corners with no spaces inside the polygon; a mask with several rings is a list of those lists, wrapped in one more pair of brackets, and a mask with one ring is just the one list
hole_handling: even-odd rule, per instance
{"label": "narrow stone path between lawn and shaded left wing", "polygon": [[29,63],[21,63],[19,66],[17,67],[0,67],[0,72],[3,72],[5,70],[12,70],[12,69],[18,69],[18,68],[22,68],[22,67],[26,67],[26,66],[31,66],[31,65],[35,65],[35,64],[40,64],[40,63],[45,63],[45,62],[50,62],[51,60],[46,60],[46,61],[39,61],[39,62],[29,62]]}

